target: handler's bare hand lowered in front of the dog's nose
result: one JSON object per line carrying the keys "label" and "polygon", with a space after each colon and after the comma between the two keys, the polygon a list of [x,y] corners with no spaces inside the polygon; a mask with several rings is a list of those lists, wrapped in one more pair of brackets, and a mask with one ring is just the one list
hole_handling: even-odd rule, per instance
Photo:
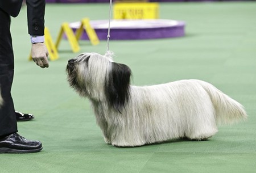
{"label": "handler's bare hand lowered in front of the dog's nose", "polygon": [[36,65],[42,68],[49,67],[48,51],[44,43],[32,44],[31,56]]}

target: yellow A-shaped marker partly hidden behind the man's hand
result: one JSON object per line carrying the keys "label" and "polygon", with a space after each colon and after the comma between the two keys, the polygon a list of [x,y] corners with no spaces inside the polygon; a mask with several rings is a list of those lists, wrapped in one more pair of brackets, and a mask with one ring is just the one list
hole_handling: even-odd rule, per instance
{"label": "yellow A-shaped marker partly hidden behind the man's hand", "polygon": [[[49,53],[49,59],[52,61],[57,60],[59,58],[59,54],[55,44],[53,44],[51,34],[49,33],[49,29],[47,27],[44,28],[44,44],[46,44],[46,48]],[[32,60],[31,53],[29,60]]]}

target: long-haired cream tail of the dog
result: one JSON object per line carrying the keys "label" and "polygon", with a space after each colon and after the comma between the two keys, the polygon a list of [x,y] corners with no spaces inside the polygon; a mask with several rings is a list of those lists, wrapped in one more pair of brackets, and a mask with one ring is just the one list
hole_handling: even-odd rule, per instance
{"label": "long-haired cream tail of the dog", "polygon": [[217,124],[232,124],[239,120],[246,120],[247,114],[243,106],[236,100],[230,98],[210,83],[195,80],[208,92],[213,106],[216,110]]}

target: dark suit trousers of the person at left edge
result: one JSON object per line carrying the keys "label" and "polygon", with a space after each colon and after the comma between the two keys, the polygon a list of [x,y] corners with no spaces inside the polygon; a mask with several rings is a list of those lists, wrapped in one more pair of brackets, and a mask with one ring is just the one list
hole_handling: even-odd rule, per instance
{"label": "dark suit trousers of the person at left edge", "polygon": [[0,108],[0,137],[17,132],[15,109],[13,98],[11,97],[14,54],[10,24],[10,15],[0,9],[0,87],[4,102]]}

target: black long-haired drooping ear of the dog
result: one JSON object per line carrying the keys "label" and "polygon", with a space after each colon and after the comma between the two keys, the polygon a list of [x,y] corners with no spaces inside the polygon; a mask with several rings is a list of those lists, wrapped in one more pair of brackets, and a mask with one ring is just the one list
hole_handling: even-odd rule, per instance
{"label": "black long-haired drooping ear of the dog", "polygon": [[112,62],[105,93],[110,106],[121,113],[130,96],[131,70],[127,65]]}

